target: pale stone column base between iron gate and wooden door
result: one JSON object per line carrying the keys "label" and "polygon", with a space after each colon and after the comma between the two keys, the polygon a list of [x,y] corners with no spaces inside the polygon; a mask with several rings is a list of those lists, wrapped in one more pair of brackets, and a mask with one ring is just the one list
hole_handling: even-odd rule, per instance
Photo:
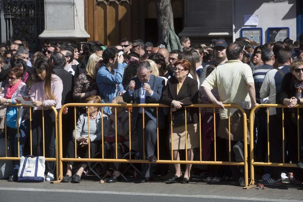
{"label": "pale stone column base between iron gate and wooden door", "polygon": [[41,39],[85,40],[84,0],[45,0],[45,30]]}

